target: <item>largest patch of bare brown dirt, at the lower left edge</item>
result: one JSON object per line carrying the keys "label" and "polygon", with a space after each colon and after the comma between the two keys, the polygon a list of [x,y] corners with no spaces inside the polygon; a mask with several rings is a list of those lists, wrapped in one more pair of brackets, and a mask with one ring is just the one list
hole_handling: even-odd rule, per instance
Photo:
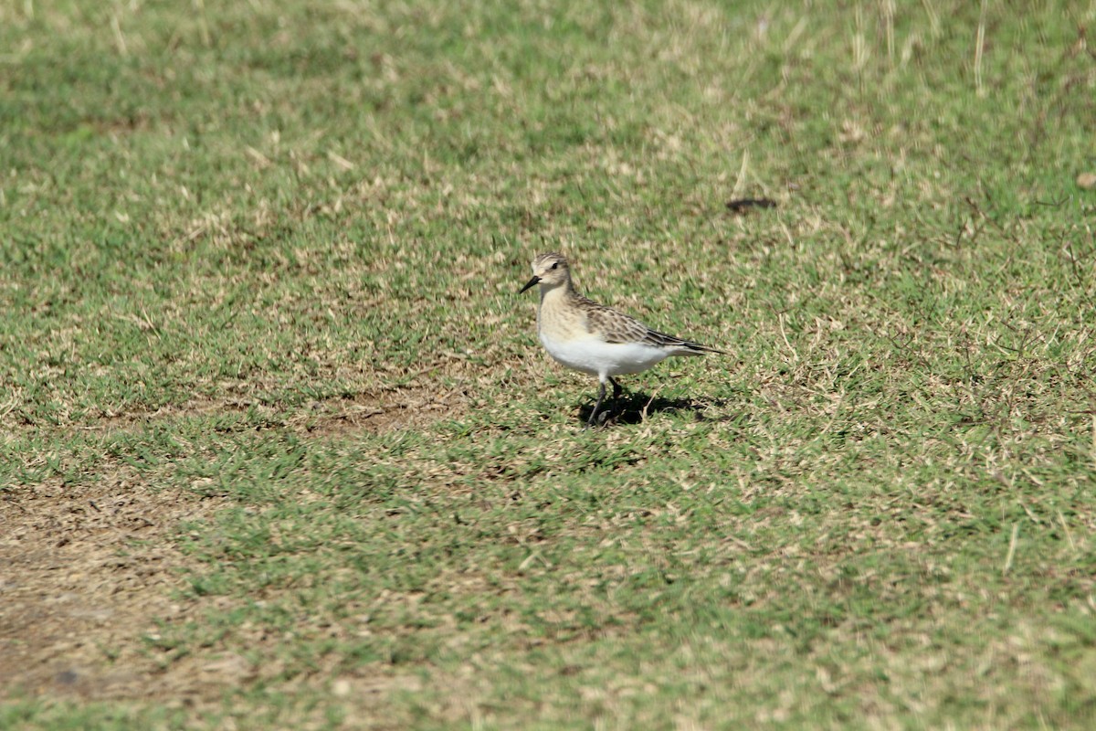
{"label": "largest patch of bare brown dirt, at the lower left edge", "polygon": [[[141,638],[193,609],[172,598],[187,559],[171,536],[220,504],[153,491],[126,469],[0,493],[0,698],[147,698],[169,686],[178,696]],[[201,679],[189,692],[222,692]]]}

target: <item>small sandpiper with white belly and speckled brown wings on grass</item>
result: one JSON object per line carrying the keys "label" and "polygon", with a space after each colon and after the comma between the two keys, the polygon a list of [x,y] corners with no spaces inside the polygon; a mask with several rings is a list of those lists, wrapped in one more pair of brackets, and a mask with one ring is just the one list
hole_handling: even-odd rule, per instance
{"label": "small sandpiper with white belly and speckled brown wings on grass", "polygon": [[619,398],[621,388],[614,376],[647,370],[671,355],[723,354],[651,330],[624,312],[583,297],[571,284],[571,269],[562,254],[540,254],[533,260],[533,278],[521,292],[533,285],[540,285],[537,334],[545,350],[567,367],[597,376],[601,381],[587,427],[605,400],[606,380],[613,384],[613,398]]}

